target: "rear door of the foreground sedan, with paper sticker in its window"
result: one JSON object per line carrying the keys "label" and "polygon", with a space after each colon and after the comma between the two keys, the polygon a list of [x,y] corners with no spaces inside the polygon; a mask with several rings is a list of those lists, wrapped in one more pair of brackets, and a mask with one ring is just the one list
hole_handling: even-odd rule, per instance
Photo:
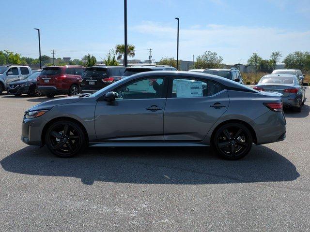
{"label": "rear door of the foreground sedan, with paper sticker in its window", "polygon": [[228,92],[217,82],[171,78],[164,112],[165,141],[202,141],[228,106]]}

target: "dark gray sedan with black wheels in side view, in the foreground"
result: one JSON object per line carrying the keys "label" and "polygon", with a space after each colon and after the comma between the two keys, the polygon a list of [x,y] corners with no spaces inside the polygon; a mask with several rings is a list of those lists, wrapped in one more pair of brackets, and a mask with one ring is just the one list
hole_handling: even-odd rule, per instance
{"label": "dark gray sedan with black wheels in side view, in the foreground", "polygon": [[252,144],[285,139],[281,96],[211,74],[145,72],[93,94],[25,112],[21,140],[60,157],[86,146],[210,146],[237,160]]}

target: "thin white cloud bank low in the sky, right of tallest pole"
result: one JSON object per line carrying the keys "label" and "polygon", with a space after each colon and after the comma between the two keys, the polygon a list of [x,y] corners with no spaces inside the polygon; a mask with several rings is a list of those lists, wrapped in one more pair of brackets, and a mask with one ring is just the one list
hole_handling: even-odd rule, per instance
{"label": "thin white cloud bank low in the sky, right of tallest pole", "polygon": [[[143,22],[130,29],[140,37],[140,41],[146,40],[144,46],[153,48],[154,58],[176,57],[175,27]],[[246,61],[253,52],[269,58],[272,51],[279,50],[285,56],[294,51],[309,51],[309,41],[310,31],[225,25],[181,28],[179,58],[201,55],[206,50],[217,52],[228,62],[238,61],[239,58]]]}

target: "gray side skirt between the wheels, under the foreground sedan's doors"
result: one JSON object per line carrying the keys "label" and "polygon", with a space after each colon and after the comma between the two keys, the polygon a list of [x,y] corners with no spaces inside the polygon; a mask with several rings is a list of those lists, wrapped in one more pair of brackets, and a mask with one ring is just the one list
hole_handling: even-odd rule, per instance
{"label": "gray side skirt between the wheels, under the foreground sedan's doors", "polygon": [[103,147],[103,146],[209,146],[197,143],[89,143],[90,147]]}

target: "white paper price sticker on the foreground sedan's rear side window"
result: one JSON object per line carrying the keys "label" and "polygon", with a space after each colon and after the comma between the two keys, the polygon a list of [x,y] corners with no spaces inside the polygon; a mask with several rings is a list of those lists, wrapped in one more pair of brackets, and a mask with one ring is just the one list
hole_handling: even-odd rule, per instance
{"label": "white paper price sticker on the foreground sedan's rear side window", "polygon": [[202,97],[202,82],[178,82],[176,83],[176,97]]}

